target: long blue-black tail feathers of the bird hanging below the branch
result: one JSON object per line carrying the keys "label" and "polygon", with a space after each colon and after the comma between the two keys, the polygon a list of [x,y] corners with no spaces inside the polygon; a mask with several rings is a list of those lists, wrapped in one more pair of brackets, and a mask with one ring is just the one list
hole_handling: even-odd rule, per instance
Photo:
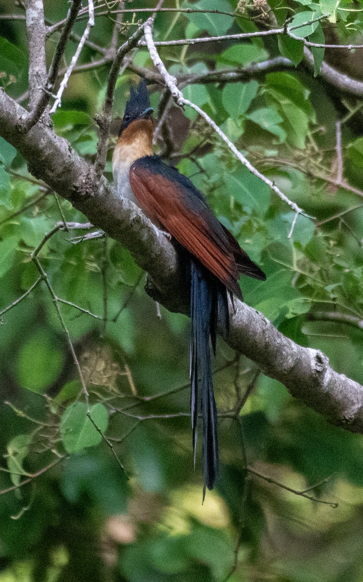
{"label": "long blue-black tail feathers of the bird hanging below the branch", "polygon": [[218,473],[217,408],[209,348],[210,338],[216,353],[218,318],[227,335],[227,289],[205,267],[191,260],[191,417],[195,463],[199,411],[202,416],[203,499],[206,487],[213,488]]}

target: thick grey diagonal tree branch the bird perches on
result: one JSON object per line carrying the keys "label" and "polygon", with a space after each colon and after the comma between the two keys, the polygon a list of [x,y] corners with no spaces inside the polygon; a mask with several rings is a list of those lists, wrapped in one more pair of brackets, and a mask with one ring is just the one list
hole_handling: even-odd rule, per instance
{"label": "thick grey diagonal tree branch the bird perches on", "polygon": [[[186,313],[185,285],[167,238],[156,235],[135,205],[117,198],[107,180],[96,180],[94,168],[49,127],[38,122],[26,136],[21,134],[17,119],[23,114],[24,109],[0,90],[0,133],[29,162],[30,171],[129,249],[140,267],[149,271],[153,296],[171,310]],[[238,300],[235,313],[231,310],[227,343],[331,423],[363,434],[363,386],[332,370],[319,350],[298,346]]]}

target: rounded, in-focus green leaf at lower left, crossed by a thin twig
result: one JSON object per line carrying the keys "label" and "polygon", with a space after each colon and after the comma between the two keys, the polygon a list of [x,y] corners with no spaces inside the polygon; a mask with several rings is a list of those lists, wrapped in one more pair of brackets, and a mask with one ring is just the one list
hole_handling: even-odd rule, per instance
{"label": "rounded, in-focus green leaf at lower left, crossed by a thin twig", "polygon": [[[107,409],[98,402],[90,406],[90,415],[94,424],[102,433],[107,429]],[[87,446],[99,445],[102,435],[87,416],[84,402],[75,402],[66,407],[61,419],[61,437],[68,453],[79,453]]]}

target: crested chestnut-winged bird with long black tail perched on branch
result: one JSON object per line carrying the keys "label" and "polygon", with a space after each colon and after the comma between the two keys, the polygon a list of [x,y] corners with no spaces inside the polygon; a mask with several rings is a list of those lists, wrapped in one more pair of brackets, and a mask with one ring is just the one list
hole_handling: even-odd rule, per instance
{"label": "crested chestnut-winged bird with long black tail perched on branch", "polygon": [[188,264],[192,446],[195,466],[200,416],[204,501],[206,488],[213,489],[219,467],[210,344],[215,356],[217,324],[222,335],[228,337],[228,296],[243,300],[239,275],[260,281],[265,281],[266,275],[218,221],[191,180],[154,154],[153,112],[142,79],[130,89],[112,157],[112,173],[118,196],[132,200],[154,228],[175,239]]}

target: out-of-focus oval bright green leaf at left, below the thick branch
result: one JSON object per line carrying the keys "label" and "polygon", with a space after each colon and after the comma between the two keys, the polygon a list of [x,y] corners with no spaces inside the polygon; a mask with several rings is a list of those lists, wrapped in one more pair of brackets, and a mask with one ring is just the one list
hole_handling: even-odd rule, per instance
{"label": "out-of-focus oval bright green leaf at left, below the thick branch", "polygon": [[43,393],[53,384],[63,366],[63,352],[54,346],[54,336],[38,329],[22,345],[16,359],[16,379],[22,388]]}

